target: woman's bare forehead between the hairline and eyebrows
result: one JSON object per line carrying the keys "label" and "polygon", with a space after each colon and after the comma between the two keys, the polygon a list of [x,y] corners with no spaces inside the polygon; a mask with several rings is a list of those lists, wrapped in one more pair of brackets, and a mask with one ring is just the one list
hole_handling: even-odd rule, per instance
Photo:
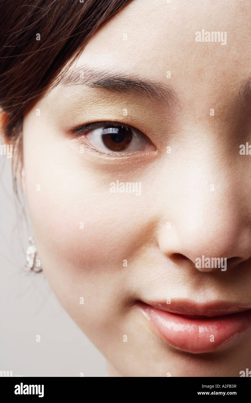
{"label": "woman's bare forehead between the hairline and eyebrows", "polygon": [[[168,81],[187,101],[201,91],[215,100],[223,89],[232,97],[251,75],[248,3],[131,1],[95,33],[77,64],[112,66]],[[196,42],[196,32],[202,30],[226,32],[226,44]]]}

